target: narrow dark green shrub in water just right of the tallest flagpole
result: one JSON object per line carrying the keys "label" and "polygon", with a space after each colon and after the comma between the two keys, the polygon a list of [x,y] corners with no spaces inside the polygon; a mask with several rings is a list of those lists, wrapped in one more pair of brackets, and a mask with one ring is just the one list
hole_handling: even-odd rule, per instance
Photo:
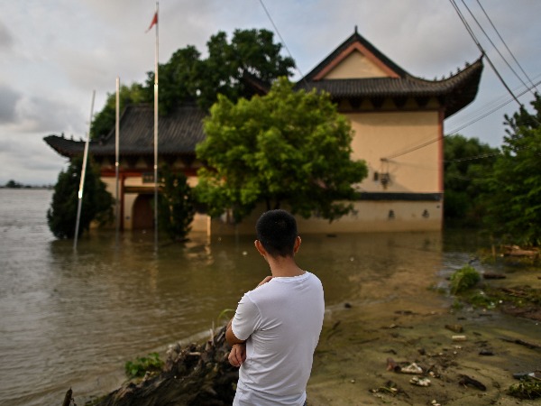
{"label": "narrow dark green shrub in water just right of the tallest flagpole", "polygon": [[184,241],[196,213],[192,189],[184,173],[162,167],[158,222],[160,230],[173,241]]}

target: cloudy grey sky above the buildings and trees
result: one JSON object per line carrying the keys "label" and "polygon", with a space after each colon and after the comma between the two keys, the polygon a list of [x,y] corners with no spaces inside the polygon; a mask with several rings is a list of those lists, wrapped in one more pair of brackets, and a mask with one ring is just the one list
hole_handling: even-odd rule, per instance
{"label": "cloudy grey sky above the buildings and trees", "polygon": [[[519,94],[528,78],[539,81],[541,2],[464,1],[511,65],[509,69],[463,0],[456,0],[509,88]],[[43,137],[64,133],[84,138],[93,90],[96,113],[107,93],[115,92],[116,77],[126,85],[144,81],[154,65],[155,34],[145,31],[155,8],[152,0],[0,0],[0,185],[7,180],[56,182],[66,161]],[[355,26],[400,67],[422,78],[447,77],[481,55],[449,0],[161,0],[160,63],[188,44],[205,56],[206,41],[218,31],[275,32],[272,22],[302,74],[344,42]],[[519,100],[527,105],[532,98],[526,92]],[[460,134],[499,146],[503,115],[515,112],[518,104],[510,101],[487,114],[509,100],[485,60],[478,97],[445,121],[445,134],[466,125]]]}

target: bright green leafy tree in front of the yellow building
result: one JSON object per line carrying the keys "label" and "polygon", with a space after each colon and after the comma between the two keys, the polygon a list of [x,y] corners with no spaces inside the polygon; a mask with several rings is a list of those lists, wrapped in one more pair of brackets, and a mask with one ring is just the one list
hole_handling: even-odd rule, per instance
{"label": "bright green leafy tree in front of the yellow building", "polygon": [[346,201],[367,167],[351,160],[351,126],[327,94],[296,92],[280,78],[264,97],[218,97],[204,125],[196,191],[211,216],[232,209],[241,221],[264,202],[332,221],[353,208]]}

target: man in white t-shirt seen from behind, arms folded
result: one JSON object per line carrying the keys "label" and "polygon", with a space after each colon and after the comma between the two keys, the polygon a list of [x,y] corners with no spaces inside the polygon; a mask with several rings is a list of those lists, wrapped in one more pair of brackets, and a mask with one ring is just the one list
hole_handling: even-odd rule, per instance
{"label": "man in white t-shirt seen from behind, arms folded", "polygon": [[323,287],[295,262],[301,243],[295,217],[271,210],[255,228],[255,248],[271,276],[243,295],[227,325],[229,362],[240,366],[233,404],[302,406],[323,324]]}

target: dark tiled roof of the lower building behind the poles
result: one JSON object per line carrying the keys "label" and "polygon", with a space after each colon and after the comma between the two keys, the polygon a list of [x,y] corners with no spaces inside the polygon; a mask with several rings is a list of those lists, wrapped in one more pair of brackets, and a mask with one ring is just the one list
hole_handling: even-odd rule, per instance
{"label": "dark tiled roof of the lower building behind the poles", "polygon": [[[197,143],[205,139],[205,114],[195,105],[184,105],[174,113],[159,117],[158,152],[160,155],[193,155]],[[85,143],[63,136],[49,135],[45,142],[60,155],[71,157],[84,151]],[[120,119],[119,151],[126,155],[153,155],[154,110],[150,105],[127,106]],[[100,141],[89,143],[95,156],[115,156],[115,128]]]}

